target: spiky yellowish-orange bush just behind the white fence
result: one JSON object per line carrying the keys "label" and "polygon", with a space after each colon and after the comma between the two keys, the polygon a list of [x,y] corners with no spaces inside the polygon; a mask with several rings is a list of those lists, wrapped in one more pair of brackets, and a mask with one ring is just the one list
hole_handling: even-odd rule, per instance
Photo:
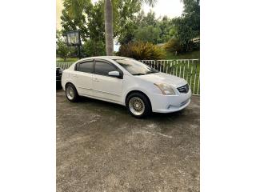
{"label": "spiky yellowish-orange bush just behind the white fence", "polygon": [[142,59],[162,59],[166,57],[166,51],[150,42],[130,42],[119,48],[118,55]]}

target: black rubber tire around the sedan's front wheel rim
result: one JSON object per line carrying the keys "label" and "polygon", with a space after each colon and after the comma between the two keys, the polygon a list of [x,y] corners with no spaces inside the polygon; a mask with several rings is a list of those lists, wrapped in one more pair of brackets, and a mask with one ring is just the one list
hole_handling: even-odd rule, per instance
{"label": "black rubber tire around the sedan's front wheel rim", "polygon": [[[141,112],[142,114],[134,114],[133,111],[130,110],[130,100],[131,99],[140,98],[140,102],[142,101],[144,104],[144,111]],[[132,102],[132,101],[131,101]],[[144,94],[141,94],[139,92],[134,92],[126,98],[126,108],[129,111],[129,113],[134,116],[135,118],[146,118],[152,113],[151,104],[149,98],[147,98]]]}

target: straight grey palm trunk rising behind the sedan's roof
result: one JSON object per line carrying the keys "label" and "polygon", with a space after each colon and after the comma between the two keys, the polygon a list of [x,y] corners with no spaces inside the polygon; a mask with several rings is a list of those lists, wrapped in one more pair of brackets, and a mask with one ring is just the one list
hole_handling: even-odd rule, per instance
{"label": "straight grey palm trunk rising behind the sedan's roof", "polygon": [[105,0],[104,6],[105,17],[105,39],[106,39],[106,55],[113,55],[113,7],[111,0]]}

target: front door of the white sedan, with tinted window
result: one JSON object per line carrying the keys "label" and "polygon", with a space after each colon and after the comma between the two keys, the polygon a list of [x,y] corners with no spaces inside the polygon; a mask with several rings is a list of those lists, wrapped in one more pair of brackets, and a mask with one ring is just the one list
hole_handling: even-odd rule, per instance
{"label": "front door of the white sedan, with tinted window", "polygon": [[122,77],[110,77],[110,71],[117,70],[122,74],[122,70],[118,69],[113,63],[105,60],[95,60],[93,74],[93,90],[94,96],[103,98],[112,102],[122,102]]}

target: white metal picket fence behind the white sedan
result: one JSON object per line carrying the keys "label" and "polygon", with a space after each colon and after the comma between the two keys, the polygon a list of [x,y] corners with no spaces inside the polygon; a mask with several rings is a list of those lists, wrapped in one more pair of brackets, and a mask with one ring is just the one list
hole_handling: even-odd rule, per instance
{"label": "white metal picket fence behind the white sedan", "polygon": [[[199,59],[175,59],[175,60],[142,60],[146,65],[166,74],[174,74],[186,79],[192,93],[200,95],[200,60]],[[67,69],[73,62],[57,62],[57,66]]]}

